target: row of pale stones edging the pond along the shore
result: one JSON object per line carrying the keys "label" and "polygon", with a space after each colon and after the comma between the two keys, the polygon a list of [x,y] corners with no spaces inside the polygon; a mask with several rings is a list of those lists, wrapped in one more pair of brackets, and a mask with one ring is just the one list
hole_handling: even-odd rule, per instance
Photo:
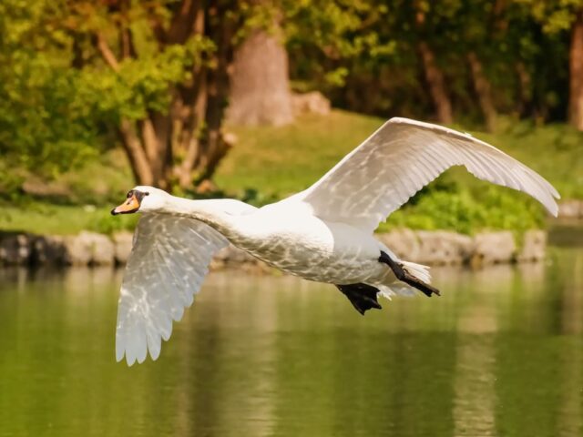
{"label": "row of pale stones edging the pond along the shore", "polygon": [[[547,232],[543,230],[527,231],[520,244],[510,231],[469,237],[451,231],[396,229],[377,238],[403,259],[434,266],[539,261],[545,258],[547,249]],[[75,236],[0,232],[0,266],[123,265],[128,261],[131,245],[129,232],[111,237],[87,231]],[[260,261],[233,246],[220,250],[210,266],[225,267],[264,269]]]}

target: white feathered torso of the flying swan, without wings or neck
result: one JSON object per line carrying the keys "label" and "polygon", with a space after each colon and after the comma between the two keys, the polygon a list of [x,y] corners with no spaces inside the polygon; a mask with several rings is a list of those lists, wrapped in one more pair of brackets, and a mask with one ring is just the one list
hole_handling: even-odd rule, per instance
{"label": "white feathered torso of the flying swan, without wings or neck", "polygon": [[288,209],[261,208],[243,217],[240,229],[248,233],[233,244],[304,279],[371,285],[384,280],[390,270],[383,269],[378,258],[379,250],[386,248],[372,234]]}

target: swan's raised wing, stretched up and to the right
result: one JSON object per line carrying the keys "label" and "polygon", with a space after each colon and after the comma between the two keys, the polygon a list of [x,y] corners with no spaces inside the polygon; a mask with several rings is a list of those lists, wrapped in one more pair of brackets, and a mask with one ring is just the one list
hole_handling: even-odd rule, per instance
{"label": "swan's raised wing, stretched up and to the right", "polygon": [[290,200],[302,200],[322,219],[373,231],[453,166],[465,166],[476,178],[524,191],[557,215],[557,190],[535,171],[468,134],[407,118],[391,118]]}

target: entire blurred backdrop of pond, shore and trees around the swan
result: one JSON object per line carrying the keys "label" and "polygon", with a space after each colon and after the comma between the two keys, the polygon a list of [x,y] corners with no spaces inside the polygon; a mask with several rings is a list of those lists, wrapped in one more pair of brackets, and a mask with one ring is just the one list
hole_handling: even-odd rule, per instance
{"label": "entire blurred backdrop of pond, shore and trees around the swan", "polygon": [[[115,362],[129,188],[261,206],[390,117],[518,158],[559,218],[453,168],[378,229],[441,298],[362,318],[227,253]],[[582,219],[583,0],[0,1],[0,436],[582,435]]]}

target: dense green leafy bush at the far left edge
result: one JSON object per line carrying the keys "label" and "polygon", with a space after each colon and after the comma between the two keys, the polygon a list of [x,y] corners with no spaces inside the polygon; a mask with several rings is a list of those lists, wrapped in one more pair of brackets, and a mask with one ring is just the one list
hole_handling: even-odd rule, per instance
{"label": "dense green leafy bush at the far left edge", "polygon": [[[62,35],[41,24],[47,5],[0,4],[0,159],[5,167],[55,175],[95,155],[88,143],[97,131],[71,98],[77,72],[56,50]],[[3,178],[0,185],[14,184]]]}

